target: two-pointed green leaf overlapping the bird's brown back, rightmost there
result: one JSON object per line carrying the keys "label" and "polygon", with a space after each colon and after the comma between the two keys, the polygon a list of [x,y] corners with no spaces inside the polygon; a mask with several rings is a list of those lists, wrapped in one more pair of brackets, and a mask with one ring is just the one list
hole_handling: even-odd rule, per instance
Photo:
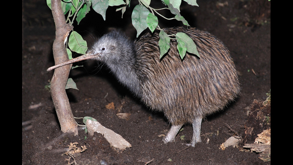
{"label": "two-pointed green leaf overlapping the bird's brown back, rightmost there", "polygon": [[[176,38],[178,43],[177,48],[178,48],[181,59],[183,59],[183,57],[185,56],[186,51],[200,57],[199,52],[196,49],[196,44],[187,34],[179,32],[176,34]],[[178,47],[179,45],[180,45],[181,52]],[[185,50],[185,53],[184,53],[184,50]]]}

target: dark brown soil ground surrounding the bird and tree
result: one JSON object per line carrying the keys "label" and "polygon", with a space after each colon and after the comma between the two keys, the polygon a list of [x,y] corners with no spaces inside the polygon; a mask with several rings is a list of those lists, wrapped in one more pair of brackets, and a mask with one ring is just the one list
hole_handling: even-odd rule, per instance
{"label": "dark brown soil ground surrounding the bird and tree", "polygon": [[[101,134],[88,137],[79,129],[78,136],[73,136],[60,131],[51,95],[44,88],[53,75],[53,71],[46,71],[54,65],[52,13],[45,0],[22,1],[22,164],[68,164],[69,156],[62,154],[68,149],[66,146],[75,142],[77,147],[87,148],[75,155],[80,165],[144,165],[149,161],[149,164],[271,164],[258,158],[259,153],[243,149],[244,143],[254,143],[257,134],[270,128],[270,107],[265,108],[264,114],[269,120],[264,124],[255,113],[254,116],[247,113],[253,109],[250,107],[254,100],[263,102],[271,89],[271,2],[198,0],[197,3],[199,7],[184,2],[181,13],[191,26],[209,31],[230,49],[239,72],[241,95],[228,108],[207,116],[202,122],[202,143],[187,148],[185,144],[190,143],[192,126],[185,125],[176,136],[176,143],[164,144],[159,135],[166,134],[170,125],[163,114],[144,108],[108,70],[95,62],[84,62],[84,67],[73,69],[70,75],[79,89],[67,90],[73,114],[75,117],[91,116],[125,138],[132,147],[120,153],[112,149]],[[115,13],[115,9],[107,10],[106,21],[103,21],[91,11],[79,26],[75,25],[75,30],[89,42],[91,36],[102,35],[112,27],[135,37],[127,10],[123,19],[120,12],[111,13]],[[161,23],[161,27],[181,25],[176,21]],[[115,107],[106,108],[112,102]],[[258,107],[252,112],[261,109]],[[127,120],[116,113],[131,115]],[[82,123],[82,120],[77,122]],[[248,128],[254,129],[248,133]],[[221,144],[236,133],[243,138],[242,143],[222,150]],[[182,135],[184,140],[180,138]]]}

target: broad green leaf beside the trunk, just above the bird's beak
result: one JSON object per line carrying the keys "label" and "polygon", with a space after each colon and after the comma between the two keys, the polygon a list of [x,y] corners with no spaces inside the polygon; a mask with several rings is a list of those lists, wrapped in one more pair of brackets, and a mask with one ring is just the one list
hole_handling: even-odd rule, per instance
{"label": "broad green leaf beside the trunk, just above the bird's beak", "polygon": [[88,49],[86,41],[83,40],[83,37],[81,37],[80,34],[78,34],[76,31],[73,31],[68,40],[68,46],[69,48],[77,53],[86,54],[86,51]]}

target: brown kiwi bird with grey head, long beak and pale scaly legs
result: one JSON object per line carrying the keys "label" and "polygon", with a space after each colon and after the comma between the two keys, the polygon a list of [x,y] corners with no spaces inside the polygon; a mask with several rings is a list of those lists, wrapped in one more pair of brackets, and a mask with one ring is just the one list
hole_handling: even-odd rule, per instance
{"label": "brown kiwi bird with grey head, long beak and pale scaly legs", "polygon": [[171,123],[164,143],[175,141],[180,128],[192,124],[190,145],[195,146],[201,142],[202,119],[225,108],[240,92],[235,64],[222,41],[208,32],[184,27],[164,31],[187,34],[200,57],[187,52],[182,60],[177,42],[171,40],[170,50],[160,59],[158,30],[135,41],[123,32],[112,31],[98,39],[86,55],[55,67],[85,59],[105,63],[117,80],[150,110],[164,113]]}

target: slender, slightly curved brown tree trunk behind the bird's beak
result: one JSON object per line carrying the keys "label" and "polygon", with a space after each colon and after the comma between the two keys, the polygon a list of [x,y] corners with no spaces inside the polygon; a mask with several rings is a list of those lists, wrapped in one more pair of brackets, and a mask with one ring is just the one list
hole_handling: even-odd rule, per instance
{"label": "slender, slightly curved brown tree trunk behind the bird's beak", "polygon": [[[73,26],[66,24],[65,16],[61,8],[61,0],[51,0],[52,14],[56,26],[56,38],[53,43],[53,55],[55,64],[69,60],[64,41]],[[51,96],[56,109],[62,132],[73,132],[78,135],[65,86],[72,64],[65,65],[54,70],[51,80]]]}

